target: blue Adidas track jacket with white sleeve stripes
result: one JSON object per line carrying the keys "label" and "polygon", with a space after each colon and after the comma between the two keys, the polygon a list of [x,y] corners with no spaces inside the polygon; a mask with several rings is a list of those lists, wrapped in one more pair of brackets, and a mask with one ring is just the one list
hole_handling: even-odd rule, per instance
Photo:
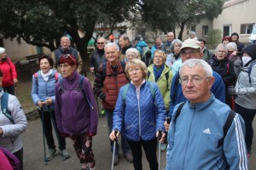
{"label": "blue Adidas track jacket with white sleeve stripes", "polygon": [[[179,105],[177,105],[178,107]],[[177,111],[174,110],[174,116]],[[172,169],[247,169],[244,141],[245,125],[236,114],[224,138],[224,124],[230,107],[211,97],[204,103],[183,105],[176,122],[172,119],[168,132],[166,170]],[[219,139],[224,144],[218,146]]]}

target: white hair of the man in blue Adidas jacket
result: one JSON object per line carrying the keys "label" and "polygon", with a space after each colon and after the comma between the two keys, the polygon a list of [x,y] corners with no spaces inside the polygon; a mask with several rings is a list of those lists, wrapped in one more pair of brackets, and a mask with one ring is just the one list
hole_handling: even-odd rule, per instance
{"label": "white hair of the man in blue Adidas jacket", "polygon": [[192,68],[197,65],[204,69],[206,77],[212,77],[212,67],[204,59],[188,59],[183,62],[183,65],[180,67],[179,76],[181,76],[181,72],[184,66]]}

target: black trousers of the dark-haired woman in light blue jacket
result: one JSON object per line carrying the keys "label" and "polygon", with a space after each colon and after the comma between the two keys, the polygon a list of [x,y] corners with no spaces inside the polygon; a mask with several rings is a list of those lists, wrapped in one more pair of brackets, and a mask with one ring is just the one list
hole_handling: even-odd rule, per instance
{"label": "black trousers of the dark-haired woman in light blue jacket", "polygon": [[[39,113],[39,116],[41,118],[41,121],[43,122],[43,114],[44,114],[44,135],[45,135],[45,138],[46,138],[46,142],[48,144],[48,147],[49,149],[55,149],[55,140],[53,138],[53,134],[52,134],[52,122],[50,120],[50,115],[49,114],[52,114],[52,117],[54,118],[54,121],[55,121],[55,125],[57,126],[56,124],[56,119],[55,119],[55,111],[43,111],[43,114],[41,113],[40,110],[38,110],[38,113]],[[56,127],[57,129],[57,127]],[[62,137],[57,129],[57,133],[56,135],[58,135],[59,139],[60,139],[60,142],[59,142],[59,149],[60,150],[64,150],[66,149],[66,141],[65,141],[65,137]]]}

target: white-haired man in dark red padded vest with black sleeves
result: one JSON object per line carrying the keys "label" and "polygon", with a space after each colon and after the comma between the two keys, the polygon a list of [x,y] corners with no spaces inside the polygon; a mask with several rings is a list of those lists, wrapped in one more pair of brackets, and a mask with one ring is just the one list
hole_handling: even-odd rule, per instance
{"label": "white-haired man in dark red padded vest with black sleeves", "polygon": [[[119,60],[119,46],[114,42],[106,44],[105,56],[107,61],[103,62],[96,73],[93,90],[97,97],[102,99],[102,105],[108,120],[108,134],[113,128],[113,110],[118,98],[119,88],[128,83],[125,75],[125,62]],[[113,151],[113,141],[110,140],[111,151]],[[131,150],[126,142],[125,136],[121,138],[121,148],[127,161],[132,162]],[[119,163],[119,144],[116,144],[114,165]]]}

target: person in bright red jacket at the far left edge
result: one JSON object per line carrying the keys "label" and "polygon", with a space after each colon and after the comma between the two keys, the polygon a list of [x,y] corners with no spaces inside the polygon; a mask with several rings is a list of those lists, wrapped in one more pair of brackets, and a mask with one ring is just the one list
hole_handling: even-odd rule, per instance
{"label": "person in bright red jacket at the far left edge", "polygon": [[18,82],[15,65],[7,57],[5,48],[0,47],[0,69],[3,72],[3,90],[15,95],[15,83]]}

